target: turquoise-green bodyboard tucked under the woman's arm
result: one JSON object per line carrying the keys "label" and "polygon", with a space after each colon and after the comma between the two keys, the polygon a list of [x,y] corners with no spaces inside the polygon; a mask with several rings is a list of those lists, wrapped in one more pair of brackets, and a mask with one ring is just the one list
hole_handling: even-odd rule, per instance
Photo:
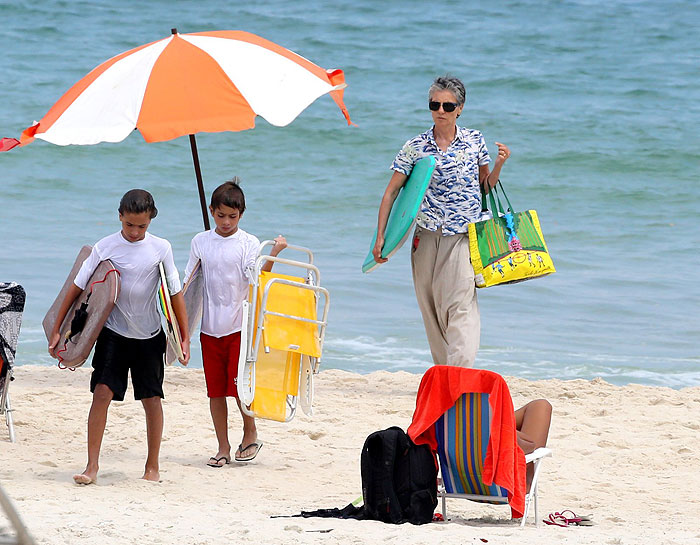
{"label": "turquoise-green bodyboard tucked under the woman's arm", "polygon": [[[394,201],[394,205],[391,207],[389,220],[386,223],[386,231],[384,232],[382,257],[389,258],[394,255],[408,238],[408,234],[416,222],[416,216],[420,210],[425,190],[428,189],[434,170],[435,157],[433,156],[424,157],[414,165],[411,175],[406,180]],[[373,271],[381,265],[381,263],[377,263],[374,260],[372,255],[372,249],[376,242],[377,230],[375,229],[372,242],[369,245],[369,253],[362,264],[362,272]]]}

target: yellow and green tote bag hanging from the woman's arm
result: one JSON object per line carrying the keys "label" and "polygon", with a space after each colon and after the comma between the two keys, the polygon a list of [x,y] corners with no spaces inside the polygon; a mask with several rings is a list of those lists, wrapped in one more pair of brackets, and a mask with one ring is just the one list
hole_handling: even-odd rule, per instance
{"label": "yellow and green tote bag hanging from the woman's arm", "polygon": [[[508,205],[506,209],[501,194]],[[513,212],[500,181],[488,196],[482,190],[482,212],[487,212],[487,197],[493,217],[469,224],[476,287],[514,284],[555,272],[537,212]]]}

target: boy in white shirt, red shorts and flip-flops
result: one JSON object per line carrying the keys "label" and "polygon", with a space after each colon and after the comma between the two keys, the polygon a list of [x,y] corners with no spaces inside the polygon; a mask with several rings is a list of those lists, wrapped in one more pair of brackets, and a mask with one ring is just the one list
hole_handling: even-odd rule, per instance
{"label": "boy in white shirt, red shorts and flip-flops", "polygon": [[[236,176],[212,193],[209,212],[216,229],[195,235],[185,268],[185,278],[189,278],[197,261],[201,261],[204,279],[200,334],[202,362],[209,409],[219,443],[219,450],[207,463],[211,467],[223,467],[231,462],[226,397],[236,398],[243,418],[243,438],[234,459],[238,462],[250,461],[262,447],[262,443],[258,442],[255,419],[241,411],[236,386],[243,327],[242,304],[248,297],[248,286],[253,280],[255,259],[260,248],[260,241],[255,236],[238,228],[245,211],[245,196],[238,183]],[[276,256],[286,247],[287,241],[280,235],[275,238],[270,255]],[[272,262],[268,261],[263,270],[271,269]]]}

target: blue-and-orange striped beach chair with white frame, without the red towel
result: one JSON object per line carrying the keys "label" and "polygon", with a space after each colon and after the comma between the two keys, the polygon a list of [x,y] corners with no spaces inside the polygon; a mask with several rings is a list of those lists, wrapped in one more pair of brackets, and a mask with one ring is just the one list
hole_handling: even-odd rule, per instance
{"label": "blue-and-orange striped beach chair with white frame, without the red towel", "polygon": [[[442,498],[442,515],[447,518],[446,498],[463,498],[492,504],[508,504],[508,491],[496,484],[483,482],[483,465],[491,435],[491,407],[489,395],[465,393],[435,423],[441,480],[438,496]],[[535,473],[530,493],[525,496],[525,511],[521,526],[527,520],[530,501],[534,498],[535,525],[537,515],[537,478],[540,463],[551,451],[539,448],[525,456],[526,462],[534,462]]]}

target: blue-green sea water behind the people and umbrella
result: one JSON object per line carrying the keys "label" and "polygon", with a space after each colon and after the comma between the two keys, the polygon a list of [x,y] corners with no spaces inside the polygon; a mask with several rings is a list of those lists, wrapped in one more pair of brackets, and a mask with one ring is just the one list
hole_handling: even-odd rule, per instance
{"label": "blue-green sea water behind the people and umbrella", "polygon": [[[180,32],[240,29],[345,71],[291,125],[198,136],[207,193],[233,175],[241,226],[315,252],[331,293],[325,367],[422,372],[430,354],[409,252],[363,275],[388,167],[427,129],[432,79],[467,85],[460,121],[512,156],[502,180],[538,211],[557,274],[480,290],[477,366],[526,378],[700,385],[700,53],[697,2],[411,3],[261,0],[0,2],[0,136],[18,136],[75,81]],[[18,364],[54,364],[44,313],[83,244],[119,228],[132,187],[184,268],[202,220],[186,138],[0,154],[0,280],[28,293]],[[193,366],[201,366],[197,343]]]}

